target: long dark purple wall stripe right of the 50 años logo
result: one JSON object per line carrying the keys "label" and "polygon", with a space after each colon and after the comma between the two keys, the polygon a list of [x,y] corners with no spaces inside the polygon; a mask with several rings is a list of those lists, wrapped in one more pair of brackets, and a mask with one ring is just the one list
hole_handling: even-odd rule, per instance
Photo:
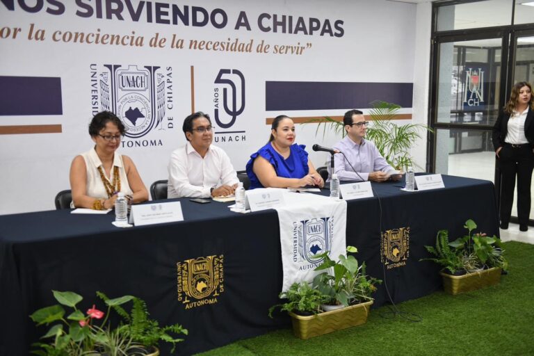
{"label": "long dark purple wall stripe right of the 50 a\u00f1os logo", "polygon": [[266,111],[371,108],[382,100],[412,107],[413,83],[266,81]]}

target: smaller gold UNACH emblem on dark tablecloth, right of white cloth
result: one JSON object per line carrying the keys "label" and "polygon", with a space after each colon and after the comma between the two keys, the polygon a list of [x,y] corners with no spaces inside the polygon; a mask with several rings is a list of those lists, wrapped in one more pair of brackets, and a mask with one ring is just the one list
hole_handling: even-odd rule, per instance
{"label": "smaller gold UNACH emblem on dark tablecloth, right of white cloth", "polygon": [[410,254],[410,227],[382,232],[380,258],[388,269],[406,265]]}

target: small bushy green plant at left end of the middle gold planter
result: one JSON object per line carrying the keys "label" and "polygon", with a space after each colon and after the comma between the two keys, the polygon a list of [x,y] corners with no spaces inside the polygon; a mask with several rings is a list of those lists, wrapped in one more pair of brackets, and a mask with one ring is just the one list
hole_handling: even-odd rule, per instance
{"label": "small bushy green plant at left end of the middle gold planter", "polygon": [[307,282],[295,282],[287,291],[280,293],[280,298],[287,302],[273,305],[269,308],[269,316],[273,317],[275,309],[280,307],[284,312],[293,312],[299,315],[312,315],[321,312],[321,305],[327,301],[327,296],[317,289],[313,289]]}

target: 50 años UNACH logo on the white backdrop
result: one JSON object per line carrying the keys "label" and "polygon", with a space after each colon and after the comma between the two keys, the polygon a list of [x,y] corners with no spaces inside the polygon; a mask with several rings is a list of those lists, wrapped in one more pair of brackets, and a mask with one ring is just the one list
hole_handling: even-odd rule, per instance
{"label": "50 a\u00f1os UNACH logo on the white backdrop", "polygon": [[218,127],[215,142],[246,140],[245,131],[236,129],[236,120],[245,110],[245,76],[239,70],[219,70],[213,88],[213,118]]}

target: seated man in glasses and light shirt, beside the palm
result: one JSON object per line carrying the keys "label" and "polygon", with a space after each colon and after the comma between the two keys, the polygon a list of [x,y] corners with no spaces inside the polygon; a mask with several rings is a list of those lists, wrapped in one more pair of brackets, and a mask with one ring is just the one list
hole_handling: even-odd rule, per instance
{"label": "seated man in glasses and light shirt, beside the palm", "polygon": [[334,145],[334,149],[343,152],[346,158],[341,153],[334,156],[334,173],[340,181],[387,181],[390,177],[400,179],[400,175],[390,176],[387,173],[394,168],[382,157],[374,143],[364,139],[368,124],[362,111],[349,110],[345,113],[343,125],[347,136]]}

